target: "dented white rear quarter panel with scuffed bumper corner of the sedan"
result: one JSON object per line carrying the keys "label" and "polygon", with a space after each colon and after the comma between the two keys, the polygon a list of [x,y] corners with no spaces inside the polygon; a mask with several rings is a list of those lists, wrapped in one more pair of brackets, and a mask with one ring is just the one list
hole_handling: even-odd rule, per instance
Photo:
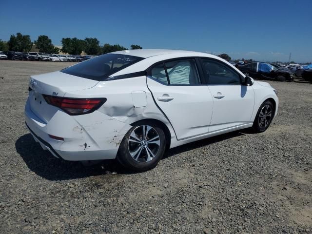
{"label": "dented white rear quarter panel with scuffed bumper corner of the sedan", "polygon": [[[146,102],[146,105],[144,103],[143,107],[135,107],[133,103],[133,93],[137,92],[145,93],[143,102]],[[172,126],[155,105],[152,94],[147,88],[145,76],[100,81],[93,88],[66,93],[65,97],[107,98],[97,111],[75,116],[90,137],[97,139],[101,149],[107,147],[118,149],[122,138],[132,127],[131,124],[146,118],[162,121],[169,128],[172,139],[175,137]]]}

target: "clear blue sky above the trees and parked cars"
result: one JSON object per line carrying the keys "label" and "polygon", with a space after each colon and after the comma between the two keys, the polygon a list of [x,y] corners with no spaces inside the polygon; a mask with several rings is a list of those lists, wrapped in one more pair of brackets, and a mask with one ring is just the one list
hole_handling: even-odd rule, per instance
{"label": "clear blue sky above the trees and parked cars", "polygon": [[0,39],[96,37],[145,49],[312,62],[312,0],[1,0]]}

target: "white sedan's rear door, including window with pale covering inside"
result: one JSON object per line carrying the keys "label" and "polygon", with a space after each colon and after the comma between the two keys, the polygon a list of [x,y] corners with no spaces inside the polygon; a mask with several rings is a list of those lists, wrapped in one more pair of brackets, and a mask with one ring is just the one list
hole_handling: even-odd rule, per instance
{"label": "white sedan's rear door, including window with pale covering inside", "polygon": [[160,62],[147,74],[148,88],[178,140],[208,133],[213,100],[200,79],[195,59]]}

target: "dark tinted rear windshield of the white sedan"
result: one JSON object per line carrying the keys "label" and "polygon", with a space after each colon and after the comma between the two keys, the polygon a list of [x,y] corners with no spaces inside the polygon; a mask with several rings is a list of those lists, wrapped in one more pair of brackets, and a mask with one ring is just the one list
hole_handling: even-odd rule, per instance
{"label": "dark tinted rear windshield of the white sedan", "polygon": [[101,81],[142,59],[130,55],[105,54],[67,67],[61,72]]}

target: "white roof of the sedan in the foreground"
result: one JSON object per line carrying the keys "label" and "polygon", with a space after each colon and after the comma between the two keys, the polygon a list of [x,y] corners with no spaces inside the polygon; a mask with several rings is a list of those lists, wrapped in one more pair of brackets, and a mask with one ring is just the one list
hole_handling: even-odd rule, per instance
{"label": "white roof of the sedan in the foreground", "polygon": [[[202,53],[202,52],[187,51],[187,50],[162,50],[162,49],[122,50],[122,51],[112,52],[111,54],[123,54],[123,55],[137,56],[141,58],[149,58],[152,56],[177,54],[177,53],[183,53],[183,57],[186,55],[210,57],[210,56],[207,56],[209,54]],[[213,55],[211,57],[215,58],[215,56]]]}

